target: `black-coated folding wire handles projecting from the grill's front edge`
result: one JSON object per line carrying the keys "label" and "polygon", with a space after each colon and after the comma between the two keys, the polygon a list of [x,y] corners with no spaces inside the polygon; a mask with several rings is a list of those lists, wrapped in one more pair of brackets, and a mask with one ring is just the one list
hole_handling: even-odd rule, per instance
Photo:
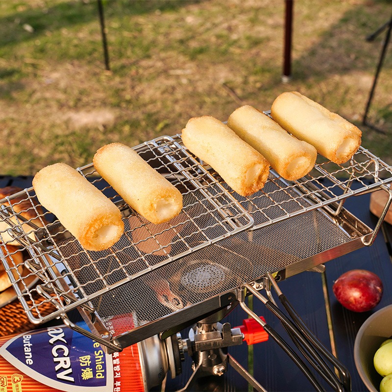
{"label": "black-coated folding wire handles projecting from the grill's front edge", "polygon": [[[351,378],[347,368],[328,351],[327,348],[319,341],[319,339],[309,330],[299,315],[294,310],[286,296],[279,289],[275,279],[270,272],[267,272],[265,280],[266,284],[248,284],[245,283],[240,288],[240,305],[245,312],[255,319],[264,330],[275,340],[276,343],[286,352],[286,354],[294,361],[298,368],[305,374],[316,391],[326,391],[317,379],[311,368],[303,361],[303,359],[293,350],[293,348],[264,320],[259,318],[245,304],[245,296],[247,292],[253,294],[262,301],[268,310],[276,316],[284,329],[292,339],[295,346],[302,353],[308,363],[317,371],[317,373],[334,389],[334,391],[351,391]],[[268,287],[266,287],[268,286]],[[273,287],[279,300],[283,305],[287,315],[283,313],[277,306],[270,292],[270,286]],[[260,294],[258,290],[265,289],[267,297]],[[337,370],[337,371],[336,371]]]}

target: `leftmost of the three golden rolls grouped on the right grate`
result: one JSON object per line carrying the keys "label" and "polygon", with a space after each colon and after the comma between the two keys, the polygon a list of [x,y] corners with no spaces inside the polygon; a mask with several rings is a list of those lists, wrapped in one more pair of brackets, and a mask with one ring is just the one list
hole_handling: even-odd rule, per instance
{"label": "leftmost of the three golden rolls grouped on the right grate", "polygon": [[208,163],[241,196],[264,187],[270,164],[221,121],[210,116],[192,118],[181,137],[185,147]]}

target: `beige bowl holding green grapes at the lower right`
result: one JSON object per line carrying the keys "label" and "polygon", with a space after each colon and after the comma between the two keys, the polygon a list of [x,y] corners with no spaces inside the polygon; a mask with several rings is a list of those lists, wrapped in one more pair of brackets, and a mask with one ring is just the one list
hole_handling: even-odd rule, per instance
{"label": "beige bowl holding green grapes at the lower right", "polygon": [[362,381],[370,392],[377,392],[382,377],[373,366],[380,344],[392,336],[392,305],[373,313],[361,326],[354,344],[354,361]]}

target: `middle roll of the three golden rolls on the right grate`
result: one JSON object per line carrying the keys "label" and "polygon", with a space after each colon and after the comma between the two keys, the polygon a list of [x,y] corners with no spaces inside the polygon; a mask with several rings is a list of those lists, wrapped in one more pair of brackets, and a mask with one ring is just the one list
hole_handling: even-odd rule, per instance
{"label": "middle roll of the three golden rolls on the right grate", "polygon": [[279,124],[252,106],[236,109],[227,125],[266,157],[271,167],[287,180],[303,177],[315,165],[315,147],[289,135]]}

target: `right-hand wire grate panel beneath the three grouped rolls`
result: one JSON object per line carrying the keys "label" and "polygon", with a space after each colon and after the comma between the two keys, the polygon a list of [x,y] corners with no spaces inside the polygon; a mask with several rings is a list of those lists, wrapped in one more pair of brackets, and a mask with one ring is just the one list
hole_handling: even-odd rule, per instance
{"label": "right-hand wire grate panel beneath the three grouped rolls", "polygon": [[[272,171],[269,182],[260,192],[247,198],[235,197],[252,215],[252,230],[257,230],[320,207],[337,214],[348,196],[390,183],[391,176],[390,166],[360,147],[344,165],[323,161],[319,156],[314,169],[298,181],[285,181]],[[354,179],[359,183],[356,188],[352,187]]]}

